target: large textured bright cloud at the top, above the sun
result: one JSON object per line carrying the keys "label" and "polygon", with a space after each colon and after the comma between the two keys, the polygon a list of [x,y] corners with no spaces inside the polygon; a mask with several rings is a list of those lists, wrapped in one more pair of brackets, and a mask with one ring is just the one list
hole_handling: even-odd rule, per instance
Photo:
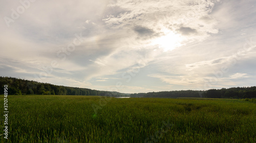
{"label": "large textured bright cloud at the top, above the sun", "polygon": [[151,36],[156,33],[155,36],[162,37],[175,31],[184,36],[197,33],[195,37],[186,37],[183,43],[188,44],[203,41],[209,37],[210,33],[218,33],[214,27],[217,23],[216,19],[208,18],[207,22],[203,20],[209,15],[216,2],[218,1],[197,1],[196,3],[187,1],[169,3],[164,0],[117,1],[108,6],[125,11],[118,15],[109,14],[103,20],[110,28],[123,30],[134,28],[139,36]]}

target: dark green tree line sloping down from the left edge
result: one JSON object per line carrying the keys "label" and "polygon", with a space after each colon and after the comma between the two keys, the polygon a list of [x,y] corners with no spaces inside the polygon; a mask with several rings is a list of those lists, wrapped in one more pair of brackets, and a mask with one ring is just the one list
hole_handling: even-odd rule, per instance
{"label": "dark green tree line sloping down from the left edge", "polygon": [[120,97],[129,96],[119,92],[98,91],[86,88],[73,88],[50,83],[41,83],[14,77],[0,77],[0,94],[4,93],[4,85],[8,85],[9,95],[92,95]]}

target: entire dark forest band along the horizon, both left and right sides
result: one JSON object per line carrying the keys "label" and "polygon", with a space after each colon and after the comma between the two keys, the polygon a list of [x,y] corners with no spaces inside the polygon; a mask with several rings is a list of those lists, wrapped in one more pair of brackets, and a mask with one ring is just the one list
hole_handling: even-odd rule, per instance
{"label": "entire dark forest band along the horizon, both left and right sides", "polygon": [[[256,98],[256,87],[237,87],[229,89],[210,89],[207,91],[164,91],[125,94],[110,91],[98,91],[86,88],[73,88],[50,83],[41,83],[14,77],[0,77],[0,87],[8,85],[9,95],[92,95],[104,96],[106,94],[113,97],[157,97],[157,98]],[[0,88],[0,93],[4,93],[4,88]]]}

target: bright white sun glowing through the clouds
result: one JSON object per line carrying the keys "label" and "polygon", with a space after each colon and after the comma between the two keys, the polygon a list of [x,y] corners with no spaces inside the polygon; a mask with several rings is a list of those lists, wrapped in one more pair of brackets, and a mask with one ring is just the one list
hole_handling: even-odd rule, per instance
{"label": "bright white sun glowing through the clouds", "polygon": [[180,34],[165,31],[163,36],[152,41],[152,45],[158,45],[159,48],[163,48],[164,51],[171,51],[176,47],[182,46],[182,41],[183,37]]}

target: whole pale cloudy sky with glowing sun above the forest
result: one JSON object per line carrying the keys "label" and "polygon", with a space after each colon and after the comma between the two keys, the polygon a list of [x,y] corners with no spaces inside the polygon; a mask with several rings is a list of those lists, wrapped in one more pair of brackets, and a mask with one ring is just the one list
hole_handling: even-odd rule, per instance
{"label": "whole pale cloudy sky with glowing sun above the forest", "polygon": [[0,76],[121,93],[256,85],[254,0],[0,2]]}

